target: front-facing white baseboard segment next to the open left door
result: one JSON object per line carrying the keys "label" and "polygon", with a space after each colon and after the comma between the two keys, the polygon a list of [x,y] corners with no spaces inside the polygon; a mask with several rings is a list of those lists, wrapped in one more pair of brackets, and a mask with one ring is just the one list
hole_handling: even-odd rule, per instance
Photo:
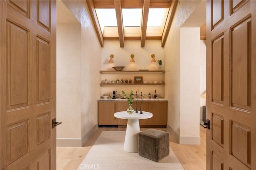
{"label": "front-facing white baseboard segment next to the open left door", "polygon": [[56,139],[57,147],[81,147],[82,139],[81,138],[57,138]]}

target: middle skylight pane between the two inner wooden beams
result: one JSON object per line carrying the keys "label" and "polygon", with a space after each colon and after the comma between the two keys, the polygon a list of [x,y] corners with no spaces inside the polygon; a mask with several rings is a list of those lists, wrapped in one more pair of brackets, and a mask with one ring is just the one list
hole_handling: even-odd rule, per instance
{"label": "middle skylight pane between the two inner wooden beams", "polygon": [[140,26],[141,25],[141,17],[142,17],[142,9],[134,8],[134,9],[122,9],[123,16],[123,25],[126,26]]}

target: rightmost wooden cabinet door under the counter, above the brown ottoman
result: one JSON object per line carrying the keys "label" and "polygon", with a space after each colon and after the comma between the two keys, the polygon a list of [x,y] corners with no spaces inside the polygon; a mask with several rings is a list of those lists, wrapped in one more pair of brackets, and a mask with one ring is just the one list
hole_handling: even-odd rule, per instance
{"label": "rightmost wooden cabinet door under the counter, above the brown ottoman", "polygon": [[153,114],[153,117],[148,119],[148,125],[167,124],[167,101],[149,101],[148,112]]}

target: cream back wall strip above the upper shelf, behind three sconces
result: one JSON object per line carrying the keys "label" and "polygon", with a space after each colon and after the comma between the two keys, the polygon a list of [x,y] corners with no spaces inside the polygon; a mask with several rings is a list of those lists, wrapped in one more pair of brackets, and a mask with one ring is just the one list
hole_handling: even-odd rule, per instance
{"label": "cream back wall strip above the upper shelf, behind three sconces", "polygon": [[[114,54],[114,63],[108,63],[110,54]],[[135,63],[129,63],[131,54],[134,54]],[[164,48],[161,47],[161,40],[147,40],[145,47],[140,47],[139,40],[126,40],[122,48],[119,41],[104,41],[101,69],[113,70],[113,66],[126,66],[123,70],[158,70],[158,64],[150,62],[151,54],[155,54],[156,61],[162,60],[164,70]]]}

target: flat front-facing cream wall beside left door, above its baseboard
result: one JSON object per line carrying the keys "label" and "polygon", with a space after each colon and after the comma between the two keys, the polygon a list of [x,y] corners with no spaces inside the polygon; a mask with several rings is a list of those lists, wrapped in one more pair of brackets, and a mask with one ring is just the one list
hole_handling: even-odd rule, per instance
{"label": "flat front-facing cream wall beside left door, above its baseboard", "polygon": [[57,24],[56,109],[57,120],[62,122],[57,138],[72,138],[77,144],[81,142],[80,49],[80,23]]}

